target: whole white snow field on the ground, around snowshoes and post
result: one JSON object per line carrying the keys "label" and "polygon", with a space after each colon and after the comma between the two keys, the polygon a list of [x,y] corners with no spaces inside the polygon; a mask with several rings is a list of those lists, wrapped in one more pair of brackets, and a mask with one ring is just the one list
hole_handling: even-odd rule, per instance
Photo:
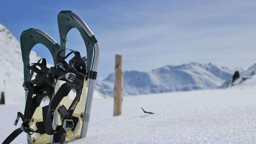
{"label": "whole white snow field on the ground, around snowshoes and post", "polygon": [[[255,89],[124,97],[122,116],[116,117],[112,117],[113,101],[93,99],[87,137],[70,143],[256,142]],[[156,114],[145,114],[141,107]],[[16,112],[24,107],[7,104],[0,108],[8,109],[4,111],[8,121],[0,119],[0,140],[4,140],[15,129]],[[26,134],[22,133],[13,143],[26,143]]]}

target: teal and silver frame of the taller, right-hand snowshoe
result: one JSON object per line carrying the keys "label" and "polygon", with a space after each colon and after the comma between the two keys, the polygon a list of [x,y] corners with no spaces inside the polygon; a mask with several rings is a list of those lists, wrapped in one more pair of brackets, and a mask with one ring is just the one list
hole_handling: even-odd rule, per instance
{"label": "teal and silver frame of the taller, right-hand snowshoe", "polygon": [[[80,134],[80,138],[84,138],[86,136],[87,129],[88,129],[94,85],[97,77],[97,67],[99,63],[99,44],[96,37],[93,35],[91,29],[86,25],[84,20],[82,20],[78,15],[76,15],[72,11],[61,11],[58,14],[58,26],[59,26],[59,32],[60,32],[60,48],[61,49],[66,48],[67,34],[69,30],[72,28],[76,28],[80,32],[84,40],[84,44],[86,46],[87,69],[90,71],[88,71],[88,75],[85,77],[85,80],[88,80],[88,79],[90,80],[89,80],[86,105],[85,105],[85,110],[83,115],[83,126]],[[94,50],[94,53],[93,53],[93,50]],[[93,60],[92,60],[92,56],[93,56]],[[92,65],[92,69],[91,69],[91,65]]]}

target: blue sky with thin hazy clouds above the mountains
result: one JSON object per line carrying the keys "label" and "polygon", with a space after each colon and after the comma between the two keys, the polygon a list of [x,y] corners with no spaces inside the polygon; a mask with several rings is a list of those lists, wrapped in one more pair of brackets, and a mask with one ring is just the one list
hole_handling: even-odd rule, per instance
{"label": "blue sky with thin hazy clouds above the mountains", "polygon": [[[123,55],[123,70],[138,71],[189,62],[248,68],[256,61],[255,0],[0,0],[0,4],[0,23],[18,39],[33,27],[60,42],[57,15],[61,10],[75,12],[99,41],[100,77],[114,72],[115,54]],[[68,33],[67,48],[86,54],[76,29]],[[33,50],[52,62],[43,45]]]}

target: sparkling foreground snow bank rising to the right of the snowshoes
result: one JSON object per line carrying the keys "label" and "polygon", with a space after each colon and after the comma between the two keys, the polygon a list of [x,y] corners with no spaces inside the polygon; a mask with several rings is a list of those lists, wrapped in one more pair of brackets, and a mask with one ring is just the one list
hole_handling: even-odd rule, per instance
{"label": "sparkling foreground snow bank rising to the right of the snowshoes", "polygon": [[256,105],[200,108],[92,121],[82,143],[255,143]]}

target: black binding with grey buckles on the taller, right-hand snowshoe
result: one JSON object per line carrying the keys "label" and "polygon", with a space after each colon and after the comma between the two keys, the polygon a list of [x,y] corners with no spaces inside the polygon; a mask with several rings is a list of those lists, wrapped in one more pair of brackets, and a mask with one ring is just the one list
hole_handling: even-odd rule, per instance
{"label": "black binding with grey buckles on the taller, right-hand snowshoe", "polygon": [[[62,57],[60,56],[60,53],[63,51],[64,50],[61,50],[57,54],[55,63],[61,62],[64,68],[60,69],[58,67],[54,67],[54,68],[51,67],[49,71],[52,74],[52,76],[56,78],[56,82],[58,80],[62,80],[62,81],[66,81],[66,83],[62,84],[59,90],[56,92],[56,94],[52,96],[52,99],[49,103],[49,107],[47,110],[47,116],[46,116],[46,119],[44,120],[45,133],[49,135],[53,134],[54,142],[64,142],[65,141],[64,133],[72,129],[74,130],[74,127],[75,127],[74,120],[76,120],[77,122],[77,119],[72,115],[76,108],[77,103],[80,100],[83,86],[84,86],[84,78],[87,73],[86,64],[80,57],[79,52],[70,50],[71,52],[69,52],[65,57]],[[74,53],[75,56],[71,60],[69,60],[69,63],[67,63],[65,59],[67,59],[68,56],[72,53]],[[67,109],[64,105],[62,105],[60,108],[57,109],[57,111],[60,113],[62,120],[65,121],[66,123],[72,122],[72,124],[59,125],[56,127],[56,130],[53,130],[52,113],[60,104],[60,101],[64,97],[66,97],[72,89],[75,89],[76,97],[73,100],[73,102],[70,104],[69,108]]]}

